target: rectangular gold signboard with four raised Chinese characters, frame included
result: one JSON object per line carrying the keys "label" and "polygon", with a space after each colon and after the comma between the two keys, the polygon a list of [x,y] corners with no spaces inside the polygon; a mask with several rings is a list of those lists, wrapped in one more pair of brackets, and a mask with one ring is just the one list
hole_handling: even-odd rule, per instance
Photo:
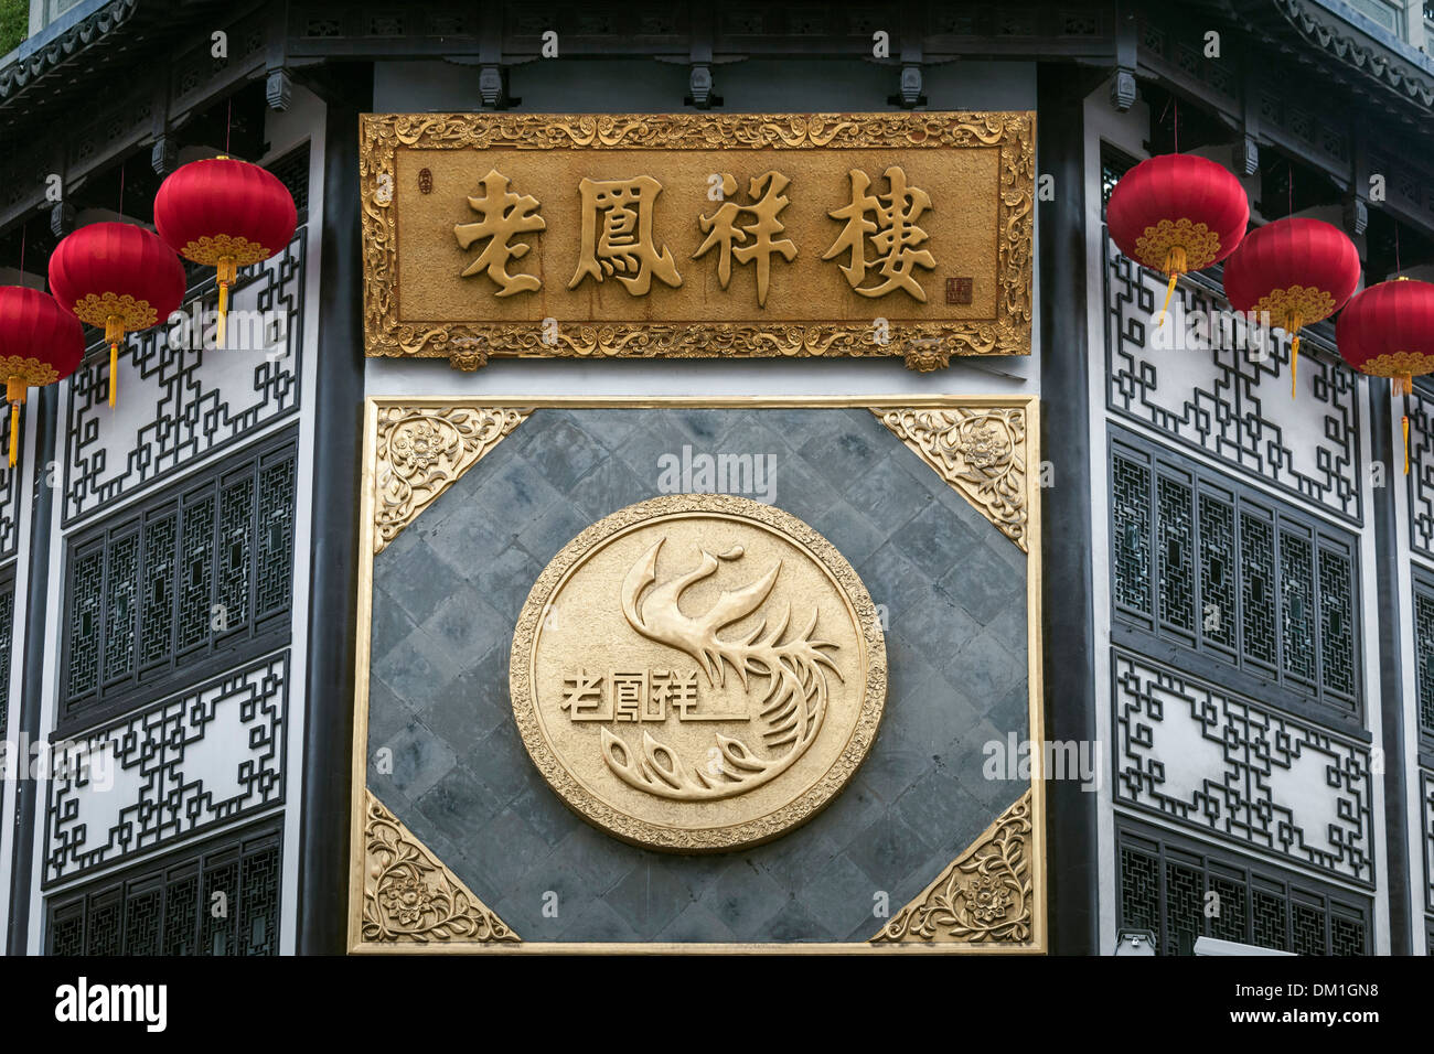
{"label": "rectangular gold signboard with four raised Chinese characters, frame included", "polygon": [[1028,354],[1034,115],[364,115],[367,353]]}

